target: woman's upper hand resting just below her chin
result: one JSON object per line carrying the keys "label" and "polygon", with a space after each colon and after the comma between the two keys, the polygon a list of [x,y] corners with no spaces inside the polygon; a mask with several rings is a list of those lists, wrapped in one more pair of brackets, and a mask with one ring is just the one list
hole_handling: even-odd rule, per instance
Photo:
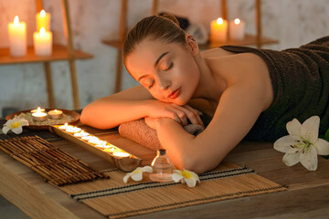
{"label": "woman's upper hand resting just below her chin", "polygon": [[[197,110],[189,105],[179,106],[175,103],[167,103],[159,100],[148,100],[147,102],[147,114],[150,118],[170,118],[182,125],[187,125],[189,120],[192,124],[205,127]],[[154,122],[151,119],[148,120],[150,124]]]}

